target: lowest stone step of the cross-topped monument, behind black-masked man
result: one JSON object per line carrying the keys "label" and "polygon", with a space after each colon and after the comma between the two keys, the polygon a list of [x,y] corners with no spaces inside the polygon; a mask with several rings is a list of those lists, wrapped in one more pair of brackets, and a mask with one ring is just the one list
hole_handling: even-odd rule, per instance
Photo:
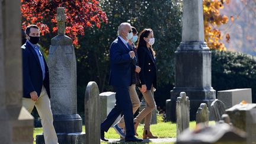
{"label": "lowest stone step of the cross-topped monument, behind black-masked man", "polygon": [[[85,144],[85,133],[57,133],[59,144]],[[44,144],[43,134],[36,136],[36,144]]]}

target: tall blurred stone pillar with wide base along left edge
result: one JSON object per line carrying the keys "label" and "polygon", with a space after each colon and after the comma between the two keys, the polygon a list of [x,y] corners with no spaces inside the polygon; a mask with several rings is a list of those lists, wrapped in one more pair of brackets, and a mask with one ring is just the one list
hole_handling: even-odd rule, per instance
{"label": "tall blurred stone pillar with wide base along left edge", "polygon": [[33,116],[23,107],[20,2],[0,1],[0,143],[32,144]]}

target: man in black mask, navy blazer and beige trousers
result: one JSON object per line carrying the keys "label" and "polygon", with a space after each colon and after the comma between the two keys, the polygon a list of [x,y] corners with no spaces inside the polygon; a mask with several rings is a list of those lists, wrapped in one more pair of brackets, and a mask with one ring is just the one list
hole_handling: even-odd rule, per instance
{"label": "man in black mask, navy blazer and beige trousers", "polygon": [[23,53],[23,106],[31,113],[34,106],[41,118],[44,142],[56,144],[57,135],[53,127],[50,108],[49,70],[40,50],[40,29],[29,25],[25,30],[27,41],[21,46]]}

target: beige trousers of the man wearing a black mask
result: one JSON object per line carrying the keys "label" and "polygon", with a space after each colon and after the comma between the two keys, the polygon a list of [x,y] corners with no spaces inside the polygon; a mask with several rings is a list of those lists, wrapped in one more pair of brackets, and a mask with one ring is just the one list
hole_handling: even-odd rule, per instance
{"label": "beige trousers of the man wearing a black mask", "polygon": [[31,113],[34,106],[36,106],[43,126],[44,142],[46,144],[58,143],[55,128],[53,127],[53,114],[50,108],[50,99],[47,95],[46,89],[44,87],[42,88],[37,101],[33,101],[31,98],[23,98],[23,106],[29,113]]}

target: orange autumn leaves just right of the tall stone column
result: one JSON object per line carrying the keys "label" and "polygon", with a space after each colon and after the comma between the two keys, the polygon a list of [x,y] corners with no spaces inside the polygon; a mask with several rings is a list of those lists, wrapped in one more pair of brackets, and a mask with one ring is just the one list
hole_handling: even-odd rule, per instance
{"label": "orange autumn leaves just right of the tall stone column", "polygon": [[203,1],[204,40],[210,49],[226,50],[225,45],[220,43],[223,38],[220,30],[218,30],[220,25],[228,23],[229,20],[226,15],[220,15],[220,9],[224,8],[225,2],[226,4],[229,3],[228,0]]}

